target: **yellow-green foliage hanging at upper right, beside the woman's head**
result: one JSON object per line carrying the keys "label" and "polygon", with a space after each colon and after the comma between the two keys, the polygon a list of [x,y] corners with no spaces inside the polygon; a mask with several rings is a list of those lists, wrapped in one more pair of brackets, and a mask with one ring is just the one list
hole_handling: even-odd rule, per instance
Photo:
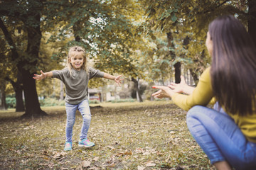
{"label": "yellow-green foliage hanging at upper right, beside the woman's head", "polygon": [[[176,62],[196,74],[201,73],[210,64],[205,47],[208,23],[223,14],[234,14],[246,23],[246,6],[245,1],[236,0],[147,1],[146,20],[138,31],[151,37],[157,46],[145,57],[145,61],[152,63],[149,77],[166,81],[172,77],[172,66]],[[165,38],[166,33],[171,35],[169,40]],[[169,41],[168,45],[164,45],[164,41]]]}

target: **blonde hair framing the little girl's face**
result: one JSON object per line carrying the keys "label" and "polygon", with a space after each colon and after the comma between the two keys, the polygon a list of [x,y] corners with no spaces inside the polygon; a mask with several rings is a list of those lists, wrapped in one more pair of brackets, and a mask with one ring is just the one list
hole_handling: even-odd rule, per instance
{"label": "blonde hair framing the little girl's face", "polygon": [[84,69],[87,74],[89,74],[89,64],[88,59],[85,54],[85,50],[82,47],[74,46],[70,47],[68,50],[68,57],[67,57],[67,63],[66,66],[68,68],[68,71],[70,72],[70,77],[72,77],[72,64],[70,63],[71,57],[76,57],[78,54],[82,54],[84,58],[84,62],[82,64],[81,69]]}

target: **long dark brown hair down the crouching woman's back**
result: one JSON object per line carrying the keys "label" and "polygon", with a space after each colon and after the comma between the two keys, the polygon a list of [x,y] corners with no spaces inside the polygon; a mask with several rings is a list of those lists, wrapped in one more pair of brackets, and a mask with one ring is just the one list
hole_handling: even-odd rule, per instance
{"label": "long dark brown hair down the crouching woman's back", "polygon": [[213,40],[210,69],[213,93],[231,114],[255,112],[256,47],[245,27],[234,16],[220,16],[209,25]]}

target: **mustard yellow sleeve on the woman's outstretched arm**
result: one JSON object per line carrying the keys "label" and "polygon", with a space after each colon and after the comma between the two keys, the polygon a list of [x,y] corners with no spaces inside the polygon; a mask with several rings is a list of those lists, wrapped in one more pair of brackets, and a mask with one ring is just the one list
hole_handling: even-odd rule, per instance
{"label": "mustard yellow sleeve on the woman's outstretched arm", "polygon": [[172,96],[174,103],[185,111],[196,105],[206,106],[211,98],[213,98],[213,89],[210,82],[210,67],[203,72],[191,95],[176,93]]}

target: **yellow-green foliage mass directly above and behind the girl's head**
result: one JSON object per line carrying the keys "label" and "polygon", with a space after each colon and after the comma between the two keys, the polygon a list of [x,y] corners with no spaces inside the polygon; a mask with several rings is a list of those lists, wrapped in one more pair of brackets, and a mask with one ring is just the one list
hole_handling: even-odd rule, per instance
{"label": "yellow-green foliage mass directly above and behind the girl's head", "polygon": [[[56,6],[57,4],[50,4]],[[61,16],[54,16],[62,8]],[[70,45],[80,45],[85,48],[94,67],[109,72],[119,73],[137,84],[137,77],[142,71],[137,67],[138,56],[135,51],[144,45],[141,35],[137,35],[136,28],[142,17],[142,6],[136,1],[72,1],[70,6],[65,3],[53,8],[54,22],[63,23],[56,28],[58,31],[50,40],[63,40],[67,34],[74,39],[62,47],[59,57],[67,51]],[[47,15],[50,16],[50,15]],[[138,17],[139,16],[139,17]],[[48,18],[46,18],[48,20]],[[90,81],[90,85],[99,84],[97,79]],[[140,96],[141,98],[141,96]]]}

